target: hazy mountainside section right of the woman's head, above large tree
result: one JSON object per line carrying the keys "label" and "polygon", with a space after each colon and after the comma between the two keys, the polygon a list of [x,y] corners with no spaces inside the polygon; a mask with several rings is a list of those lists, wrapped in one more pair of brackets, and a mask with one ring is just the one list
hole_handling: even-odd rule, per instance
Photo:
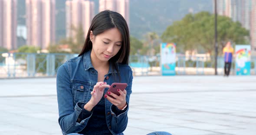
{"label": "hazy mountainside section right of the woman's head, above large tree", "polygon": [[147,32],[161,35],[167,26],[182,19],[189,11],[212,12],[212,6],[212,0],[130,0],[131,35],[138,39]]}

